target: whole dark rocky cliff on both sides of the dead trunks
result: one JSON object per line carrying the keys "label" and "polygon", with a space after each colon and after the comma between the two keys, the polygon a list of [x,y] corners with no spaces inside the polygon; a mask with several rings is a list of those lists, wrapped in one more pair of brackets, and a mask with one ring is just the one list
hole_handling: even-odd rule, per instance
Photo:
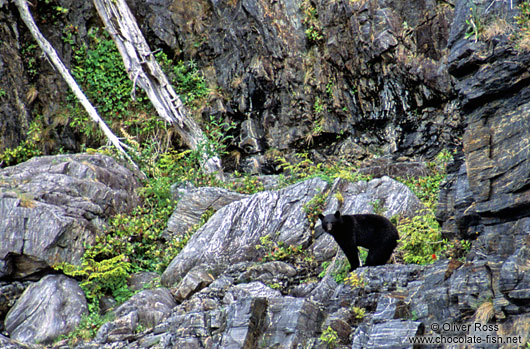
{"label": "whole dark rocky cliff on both sides of the dead trunks", "polygon": [[[240,154],[247,170],[271,171],[267,150],[312,150],[319,160],[334,155],[359,159],[368,150],[433,156],[460,134],[445,69],[452,15],[445,3],[129,4],[152,49],[198,63],[216,91],[202,115],[236,122],[230,149]],[[54,6],[68,12],[58,13]],[[91,2],[39,3],[33,11],[67,65],[72,47],[57,28],[75,25],[73,39],[79,45],[98,22]],[[32,39],[14,6],[3,4],[0,15],[6,19],[3,56],[14,57],[0,71],[0,87],[7,92],[0,97],[6,101],[7,123],[0,147],[17,145],[29,122],[41,115],[45,125],[55,126],[48,138],[56,143],[50,147],[77,149],[74,130],[60,117],[64,83],[35,45],[28,46]]]}

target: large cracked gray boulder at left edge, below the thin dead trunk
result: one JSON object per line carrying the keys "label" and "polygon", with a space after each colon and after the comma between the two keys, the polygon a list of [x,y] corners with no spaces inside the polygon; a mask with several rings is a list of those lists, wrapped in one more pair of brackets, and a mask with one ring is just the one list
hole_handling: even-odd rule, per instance
{"label": "large cracked gray boulder at left edge, below the thin dead trunk", "polygon": [[78,263],[104,219],[139,203],[137,177],[104,155],[33,158],[0,171],[0,278]]}

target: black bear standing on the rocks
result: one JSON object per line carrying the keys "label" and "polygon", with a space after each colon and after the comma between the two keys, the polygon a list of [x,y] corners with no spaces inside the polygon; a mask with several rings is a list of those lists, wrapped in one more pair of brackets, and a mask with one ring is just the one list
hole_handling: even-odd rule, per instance
{"label": "black bear standing on the rocks", "polygon": [[318,215],[324,231],[339,244],[348,261],[350,271],[359,267],[357,246],[368,249],[366,265],[385,264],[397,246],[399,235],[396,227],[385,217],[375,214],[342,216],[335,214]]}

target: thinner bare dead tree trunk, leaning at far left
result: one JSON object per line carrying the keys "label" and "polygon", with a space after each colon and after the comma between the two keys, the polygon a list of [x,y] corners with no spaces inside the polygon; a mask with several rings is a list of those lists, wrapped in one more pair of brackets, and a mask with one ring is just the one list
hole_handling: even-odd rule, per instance
{"label": "thinner bare dead tree trunk, leaning at far left", "polygon": [[118,149],[118,151],[123,154],[136,167],[136,164],[134,164],[134,162],[124,149],[129,147],[126,144],[122,143],[118,139],[118,137],[116,137],[116,135],[112,133],[107,124],[105,124],[105,121],[103,121],[103,119],[98,115],[96,109],[92,106],[92,104],[90,104],[90,101],[87,99],[83,91],[81,91],[76,81],[61,61],[61,58],[59,58],[59,55],[57,55],[57,52],[55,51],[53,46],[41,34],[39,28],[37,27],[37,24],[33,20],[33,16],[29,11],[28,4],[26,3],[26,1],[14,0],[14,2],[18,8],[22,21],[24,21],[24,24],[26,24],[26,26],[28,27],[29,31],[31,32],[31,35],[33,36],[33,38],[35,38],[42,51],[50,59],[55,69],[59,72],[59,74],[61,74],[63,79],[66,81],[66,83],[72,90],[72,92],[79,99],[88,115],[92,118],[92,120],[97,123],[97,125],[103,131],[107,139],[116,147],[116,149]]}

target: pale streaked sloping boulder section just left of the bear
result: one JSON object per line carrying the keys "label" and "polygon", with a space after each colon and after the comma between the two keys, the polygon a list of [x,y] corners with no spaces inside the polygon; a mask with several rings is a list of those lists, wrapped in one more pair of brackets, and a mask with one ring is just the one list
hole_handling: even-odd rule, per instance
{"label": "pale streaked sloping boulder section just left of the bear", "polygon": [[171,286],[195,265],[233,264],[257,259],[260,237],[307,244],[311,237],[303,205],[327,187],[314,178],[278,191],[254,194],[223,207],[191,237],[162,274]]}

